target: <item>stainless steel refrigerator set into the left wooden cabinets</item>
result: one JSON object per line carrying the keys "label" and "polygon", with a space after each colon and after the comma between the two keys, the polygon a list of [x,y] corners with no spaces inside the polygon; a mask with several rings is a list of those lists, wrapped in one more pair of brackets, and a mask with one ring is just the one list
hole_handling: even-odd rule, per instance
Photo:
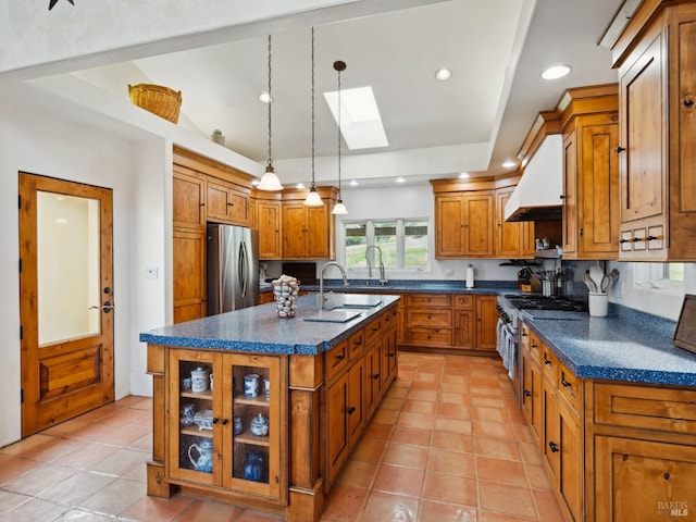
{"label": "stainless steel refrigerator set into the left wooden cabinets", "polygon": [[208,225],[208,315],[259,303],[258,232]]}

